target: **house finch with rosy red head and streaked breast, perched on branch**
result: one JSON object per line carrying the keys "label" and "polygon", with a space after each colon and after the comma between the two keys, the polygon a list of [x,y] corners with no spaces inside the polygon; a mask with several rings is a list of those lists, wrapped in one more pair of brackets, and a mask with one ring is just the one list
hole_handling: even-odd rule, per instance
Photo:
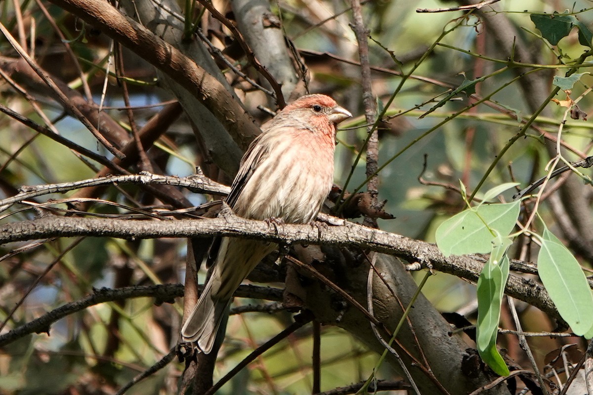
{"label": "house finch with rosy red head and streaked breast, perched on branch", "polygon": [[[307,95],[286,105],[264,124],[241,159],[227,203],[241,217],[309,223],[333,183],[336,124],[352,117],[325,95]],[[219,240],[206,287],[181,336],[208,354],[232,294],[275,243]]]}

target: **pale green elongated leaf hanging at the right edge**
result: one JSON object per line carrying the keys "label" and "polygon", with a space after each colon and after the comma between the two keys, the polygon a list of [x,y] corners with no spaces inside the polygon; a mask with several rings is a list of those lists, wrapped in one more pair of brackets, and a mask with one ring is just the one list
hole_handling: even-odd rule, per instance
{"label": "pale green elongated leaf hanging at the right edge", "polygon": [[537,271],[560,316],[576,335],[593,326],[593,296],[579,262],[547,228],[544,229]]}

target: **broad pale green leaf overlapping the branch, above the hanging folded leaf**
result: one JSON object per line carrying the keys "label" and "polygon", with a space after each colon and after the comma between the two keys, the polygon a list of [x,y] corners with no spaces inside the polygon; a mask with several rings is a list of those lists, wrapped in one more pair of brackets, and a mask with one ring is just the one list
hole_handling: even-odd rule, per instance
{"label": "broad pale green leaf overlapping the branch, above the hanging folded leaf", "polygon": [[491,232],[505,237],[515,227],[521,202],[483,204],[444,221],[436,229],[436,245],[445,256],[487,253],[492,250]]}

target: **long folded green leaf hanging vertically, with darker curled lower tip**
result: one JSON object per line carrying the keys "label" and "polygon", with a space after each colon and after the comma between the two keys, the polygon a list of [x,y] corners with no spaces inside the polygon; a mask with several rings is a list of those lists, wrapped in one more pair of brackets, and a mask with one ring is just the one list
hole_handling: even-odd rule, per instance
{"label": "long folded green leaf hanging vertically, with darker curled lower tip", "polygon": [[483,361],[502,376],[508,375],[509,369],[496,348],[496,338],[500,322],[500,304],[509,277],[509,258],[506,256],[506,250],[511,244],[510,239],[500,235],[492,240],[490,259],[484,265],[477,284],[477,349]]}

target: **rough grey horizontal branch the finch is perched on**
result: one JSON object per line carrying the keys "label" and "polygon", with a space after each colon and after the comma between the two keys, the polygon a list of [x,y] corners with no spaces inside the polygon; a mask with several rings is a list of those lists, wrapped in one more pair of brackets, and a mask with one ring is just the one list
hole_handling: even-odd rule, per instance
{"label": "rough grey horizontal branch the finch is perched on", "polygon": [[[205,220],[131,221],[47,216],[34,221],[0,226],[0,243],[57,236],[153,239],[214,235],[247,237],[289,244],[359,246],[396,255],[406,261],[430,263],[438,271],[474,282],[477,281],[484,263],[484,260],[478,256],[451,255],[445,258],[436,245],[431,243],[346,221],[343,221],[342,226],[327,226],[323,223],[270,226],[264,221],[237,217],[230,210],[223,210],[218,218]],[[547,291],[533,280],[511,275],[506,284],[506,293],[559,318]]]}

